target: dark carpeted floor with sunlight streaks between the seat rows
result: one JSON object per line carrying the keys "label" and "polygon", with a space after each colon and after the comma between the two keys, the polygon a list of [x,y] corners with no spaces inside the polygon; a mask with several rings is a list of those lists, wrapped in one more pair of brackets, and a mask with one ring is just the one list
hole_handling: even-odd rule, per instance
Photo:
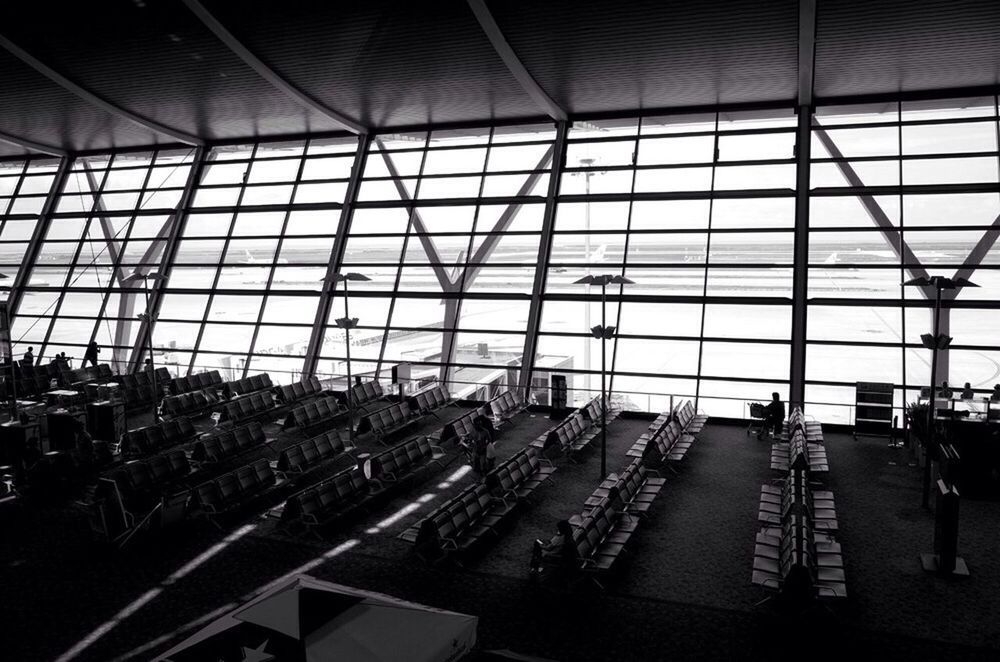
{"label": "dark carpeted floor with sunlight streaks between the seat rows", "polygon": [[[504,433],[501,456],[551,424],[522,416]],[[609,469],[625,464],[647,425],[612,424]],[[531,541],[579,512],[599,482],[596,448],[579,464],[557,462],[535,504],[465,568],[428,568],[397,538],[474,479],[450,480],[458,460],[322,543],[252,517],[225,531],[185,523],[119,554],[95,546],[71,511],[8,507],[0,511],[0,622],[10,634],[0,650],[17,661],[151,659],[218,610],[307,571],[476,614],[485,648],[557,660],[998,659],[1000,504],[962,503],[960,550],[972,578],[928,576],[917,555],[931,548],[933,517],[920,509],[918,469],[905,466],[905,452],[835,434],[827,447],[851,594],[833,611],[788,617],[754,607],[764,597],[749,578],[759,486],[774,477],[769,444],[709,424],[679,474],[667,476],[632,558],[605,592],[566,595],[525,580]]]}

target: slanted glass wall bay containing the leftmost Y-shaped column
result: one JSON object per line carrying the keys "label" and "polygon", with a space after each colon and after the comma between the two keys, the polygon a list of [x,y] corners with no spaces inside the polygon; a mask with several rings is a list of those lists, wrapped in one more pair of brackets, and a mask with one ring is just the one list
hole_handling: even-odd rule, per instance
{"label": "slanted glass wall bay containing the leftmost Y-shaped column", "polygon": [[193,150],[123,152],[73,160],[12,336],[36,361],[65,352],[79,365],[87,344],[125,371],[146,309],[142,280],[155,271],[176,222]]}

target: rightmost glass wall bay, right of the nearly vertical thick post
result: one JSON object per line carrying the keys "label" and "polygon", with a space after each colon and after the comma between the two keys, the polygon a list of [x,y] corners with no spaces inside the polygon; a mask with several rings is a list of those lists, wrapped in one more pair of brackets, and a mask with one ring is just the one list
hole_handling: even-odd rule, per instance
{"label": "rightmost glass wall bay, right of the nearly vertical thick post", "polygon": [[820,108],[812,139],[806,400],[853,422],[854,382],[897,386],[896,414],[930,381],[934,291],[945,291],[938,383],[987,395],[1000,381],[996,99]]}

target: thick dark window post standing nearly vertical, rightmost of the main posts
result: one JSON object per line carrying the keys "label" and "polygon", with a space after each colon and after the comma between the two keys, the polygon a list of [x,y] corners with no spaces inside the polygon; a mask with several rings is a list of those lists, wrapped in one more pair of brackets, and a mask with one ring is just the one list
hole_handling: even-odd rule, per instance
{"label": "thick dark window post standing nearly vertical, rightmost of the main posts", "polygon": [[809,160],[812,107],[799,106],[795,141],[795,243],[792,269],[792,356],[789,407],[805,407],[806,311],[809,295]]}

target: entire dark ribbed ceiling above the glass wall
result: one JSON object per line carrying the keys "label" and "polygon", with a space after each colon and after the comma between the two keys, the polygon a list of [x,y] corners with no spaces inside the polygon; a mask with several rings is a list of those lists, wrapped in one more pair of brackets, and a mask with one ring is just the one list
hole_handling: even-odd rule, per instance
{"label": "entire dark ribbed ceiling above the glass wall", "polygon": [[[465,0],[201,0],[267,67],[373,129],[537,119]],[[487,0],[572,117],[795,102],[798,1]],[[817,99],[1000,82],[996,0],[818,0]],[[0,5],[0,34],[131,113],[205,140],[337,130],[225,45],[182,0]],[[67,150],[175,138],[63,89],[0,49],[0,133]],[[0,156],[23,150],[0,143]]]}

